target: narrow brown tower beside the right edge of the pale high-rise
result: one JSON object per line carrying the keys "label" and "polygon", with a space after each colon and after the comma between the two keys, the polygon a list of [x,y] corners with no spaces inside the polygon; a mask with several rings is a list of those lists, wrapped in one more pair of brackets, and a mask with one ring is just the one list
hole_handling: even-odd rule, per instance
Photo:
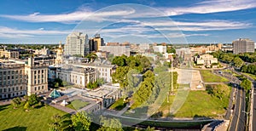
{"label": "narrow brown tower beside the right edge of the pale high-rise", "polygon": [[98,51],[100,46],[104,46],[104,40],[100,36],[100,34],[96,34],[95,37],[90,38],[89,40],[90,52]]}

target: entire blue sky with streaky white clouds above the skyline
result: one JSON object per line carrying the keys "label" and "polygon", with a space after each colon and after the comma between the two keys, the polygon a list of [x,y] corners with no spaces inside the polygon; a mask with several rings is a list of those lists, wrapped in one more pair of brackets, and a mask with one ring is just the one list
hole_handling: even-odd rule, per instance
{"label": "entire blue sky with streaky white clouds above the skyline", "polygon": [[72,31],[106,43],[231,43],[256,41],[255,25],[255,0],[0,2],[0,43],[65,43]]}

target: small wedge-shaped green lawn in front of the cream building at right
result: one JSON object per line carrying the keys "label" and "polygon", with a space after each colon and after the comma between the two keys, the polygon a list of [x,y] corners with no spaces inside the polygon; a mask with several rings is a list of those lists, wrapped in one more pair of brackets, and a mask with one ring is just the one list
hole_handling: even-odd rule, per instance
{"label": "small wedge-shaped green lawn in front of the cream building at right", "polygon": [[201,70],[201,76],[205,83],[225,83],[229,82],[229,80],[225,77],[219,77],[212,73],[209,70]]}

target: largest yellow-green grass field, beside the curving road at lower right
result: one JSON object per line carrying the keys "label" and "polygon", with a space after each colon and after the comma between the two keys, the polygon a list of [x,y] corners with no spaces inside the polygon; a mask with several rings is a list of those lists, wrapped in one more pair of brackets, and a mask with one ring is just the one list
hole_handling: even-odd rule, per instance
{"label": "largest yellow-green grass field, beside the curving road at lower right", "polygon": [[[212,86],[212,85],[211,85]],[[172,117],[218,117],[224,115],[229,104],[230,87],[226,84],[213,85],[214,89],[224,92],[224,98],[208,94],[207,91],[189,91],[182,107]],[[177,95],[177,94],[176,94]],[[168,117],[172,102],[176,95],[169,95],[169,103],[165,100],[158,110],[158,117]],[[183,94],[185,97],[185,94]],[[170,117],[170,116],[169,116]]]}

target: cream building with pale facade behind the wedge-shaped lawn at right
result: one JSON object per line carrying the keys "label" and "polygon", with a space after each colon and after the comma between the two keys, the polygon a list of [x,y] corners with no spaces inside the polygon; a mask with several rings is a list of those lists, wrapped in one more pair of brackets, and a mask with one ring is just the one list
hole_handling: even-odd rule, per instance
{"label": "cream building with pale facade behind the wedge-shaped lawn at right", "polygon": [[202,54],[195,58],[195,62],[197,65],[206,65],[210,67],[214,63],[218,63],[217,58],[213,58],[211,54]]}

